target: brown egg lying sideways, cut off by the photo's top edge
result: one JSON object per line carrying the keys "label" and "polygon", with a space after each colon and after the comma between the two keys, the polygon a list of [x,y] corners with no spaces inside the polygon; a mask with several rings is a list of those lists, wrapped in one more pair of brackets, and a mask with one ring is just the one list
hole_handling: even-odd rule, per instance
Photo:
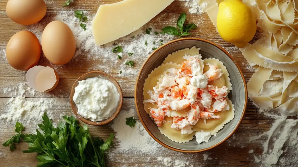
{"label": "brown egg lying sideways, cut off by the photo's top edge", "polygon": [[6,13],[18,24],[35,24],[46,15],[46,3],[43,0],[9,0]]}

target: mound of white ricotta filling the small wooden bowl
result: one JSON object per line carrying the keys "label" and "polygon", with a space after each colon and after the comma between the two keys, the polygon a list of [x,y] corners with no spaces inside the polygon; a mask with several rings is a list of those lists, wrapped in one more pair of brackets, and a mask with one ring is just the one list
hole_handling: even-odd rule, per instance
{"label": "mound of white ricotta filling the small wooden bowl", "polygon": [[78,113],[91,121],[103,121],[116,111],[119,93],[116,86],[102,78],[78,81],[73,100]]}

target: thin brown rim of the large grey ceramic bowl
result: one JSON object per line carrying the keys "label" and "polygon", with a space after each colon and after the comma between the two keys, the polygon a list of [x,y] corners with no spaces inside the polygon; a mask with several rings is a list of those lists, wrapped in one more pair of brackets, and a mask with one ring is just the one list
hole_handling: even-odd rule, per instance
{"label": "thin brown rim of the large grey ceramic bowl", "polygon": [[[208,147],[208,148],[206,148],[206,149],[191,150],[191,151],[189,151],[189,150],[182,150],[182,149],[176,149],[176,148],[174,148],[174,147],[168,146],[167,144],[163,143],[163,142],[160,141],[158,138],[156,138],[156,137],[152,134],[152,132],[149,130],[149,128],[147,127],[147,125],[145,124],[145,122],[144,122],[144,120],[143,120],[143,118],[142,118],[142,116],[141,116],[141,113],[140,113],[140,110],[139,110],[139,107],[138,107],[138,104],[137,104],[137,98],[136,98],[136,97],[137,97],[136,90],[137,90],[137,87],[138,87],[138,85],[139,85],[139,78],[140,78],[140,76],[141,76],[141,72],[143,71],[143,68],[144,68],[145,64],[150,60],[150,58],[152,57],[152,55],[154,55],[157,51],[159,51],[160,49],[164,48],[165,46],[168,46],[168,45],[170,45],[170,44],[172,44],[172,43],[175,43],[175,42],[178,42],[178,41],[184,41],[184,40],[195,40],[195,41],[202,41],[202,42],[205,42],[205,43],[209,43],[209,44],[211,44],[211,45],[213,45],[213,46],[216,46],[218,49],[220,49],[221,51],[223,51],[227,56],[229,56],[229,58],[230,58],[230,59],[234,62],[234,64],[237,66],[238,71],[239,71],[239,73],[240,73],[240,75],[241,75],[241,78],[242,78],[242,80],[243,80],[243,86],[244,86],[244,89],[245,89],[245,97],[246,97],[246,98],[245,98],[245,105],[244,105],[244,108],[243,108],[243,111],[242,111],[242,115],[241,115],[240,121],[237,123],[235,129],[234,129],[234,130],[233,130],[233,131],[232,131],[226,138],[224,138],[224,140],[222,140],[221,142],[219,142],[219,143],[217,143],[217,144],[215,144],[215,145],[213,145],[213,146],[210,146],[210,147]],[[245,114],[245,111],[246,111],[246,106],[247,106],[247,100],[248,100],[247,98],[248,98],[248,94],[247,94],[246,81],[245,81],[244,75],[243,75],[243,73],[242,73],[242,71],[241,71],[239,65],[235,62],[234,58],[233,58],[233,57],[232,57],[232,56],[231,56],[225,49],[223,49],[221,46],[219,46],[219,45],[217,45],[217,44],[215,44],[215,43],[213,43],[213,42],[211,42],[211,41],[209,41],[209,40],[204,40],[204,39],[201,39],[201,38],[180,38],[180,39],[172,40],[172,41],[170,41],[170,42],[168,42],[168,43],[165,43],[164,45],[160,46],[160,47],[159,47],[158,49],[156,49],[155,51],[153,51],[153,52],[150,54],[150,56],[147,58],[147,60],[143,63],[142,68],[141,68],[140,71],[139,71],[138,77],[136,78],[136,85],[135,85],[135,90],[134,90],[134,101],[135,101],[135,105],[136,105],[136,111],[137,111],[137,113],[138,113],[139,119],[140,119],[140,121],[141,121],[143,127],[146,129],[146,131],[149,133],[149,135],[150,135],[155,141],[157,141],[159,144],[161,144],[162,146],[164,146],[164,147],[166,147],[166,148],[168,148],[168,149],[177,151],[177,152],[184,152],[184,153],[198,153],[198,152],[204,152],[204,151],[207,151],[207,150],[209,150],[209,149],[213,149],[213,148],[219,146],[221,143],[223,143],[223,142],[226,141],[228,138],[230,138],[230,137],[235,133],[235,131],[238,129],[240,123],[241,123],[242,120],[243,120],[243,117],[244,117],[244,114]]]}

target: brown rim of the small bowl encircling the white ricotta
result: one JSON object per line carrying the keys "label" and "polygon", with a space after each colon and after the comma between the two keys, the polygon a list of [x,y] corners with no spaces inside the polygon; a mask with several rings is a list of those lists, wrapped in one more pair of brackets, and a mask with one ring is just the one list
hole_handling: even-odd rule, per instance
{"label": "brown rim of the small bowl encircling the white ricotta", "polygon": [[[119,102],[118,102],[118,107],[116,109],[116,111],[113,113],[113,115],[111,115],[108,119],[105,119],[103,121],[91,121],[89,119],[86,119],[84,118],[83,116],[81,116],[77,110],[75,110],[75,102],[73,101],[73,96],[72,94],[75,93],[75,87],[77,87],[77,85],[75,86],[75,84],[77,83],[77,81],[81,81],[83,77],[85,77],[86,75],[89,75],[89,74],[98,74],[99,76],[100,75],[104,75],[106,77],[108,77],[109,79],[107,79],[108,81],[112,82],[112,84],[115,85],[115,87],[117,88],[118,90],[118,93],[119,93]],[[88,77],[89,78],[89,77]],[[111,75],[105,73],[105,72],[102,72],[102,71],[90,71],[90,72],[87,72],[86,74],[83,74],[82,76],[80,76],[76,81],[75,83],[72,85],[72,89],[70,91],[70,105],[72,107],[72,111],[75,113],[75,115],[77,116],[77,118],[79,118],[82,122],[84,122],[85,124],[89,124],[89,125],[95,125],[95,126],[101,126],[101,125],[105,125],[105,124],[108,124],[110,123],[111,121],[113,121],[117,116],[118,114],[120,113],[120,110],[122,108],[122,104],[123,104],[123,94],[122,94],[122,89],[119,85],[119,83],[117,82],[117,80],[112,77]]]}

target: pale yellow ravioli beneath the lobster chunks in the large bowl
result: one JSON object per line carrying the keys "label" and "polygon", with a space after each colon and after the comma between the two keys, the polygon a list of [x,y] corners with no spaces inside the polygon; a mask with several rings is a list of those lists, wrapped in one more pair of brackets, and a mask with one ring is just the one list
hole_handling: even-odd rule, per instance
{"label": "pale yellow ravioli beneath the lobster chunks in the large bowl", "polygon": [[[232,90],[232,84],[230,82],[229,73],[226,67],[224,66],[224,64],[220,60],[215,58],[201,60],[201,54],[199,53],[199,50],[200,48],[196,48],[194,46],[190,49],[186,48],[186,49],[176,51],[172,54],[169,54],[165,58],[162,65],[155,68],[148,75],[148,78],[145,80],[145,84],[143,88],[144,100],[151,99],[150,94],[148,94],[148,91],[153,91],[153,87],[155,87],[156,90],[160,88],[160,85],[162,84],[164,77],[169,75],[169,72],[167,71],[168,69],[175,68],[178,70],[181,66],[179,64],[189,59],[192,56],[197,56],[199,58],[198,62],[200,66],[203,68],[203,73],[208,71],[210,68],[209,65],[207,64],[214,65],[216,68],[221,69],[222,76],[219,77],[218,79],[215,79],[214,81],[210,81],[208,84],[217,86],[218,88],[223,88],[224,86],[226,86],[227,91],[230,92],[230,90]],[[153,95],[151,94],[151,96]],[[227,101],[227,104],[229,105],[229,110],[214,112],[215,116],[220,116],[220,118],[218,119],[210,118],[204,121],[203,118],[199,118],[199,121],[192,126],[193,132],[191,134],[181,134],[181,130],[176,130],[171,127],[171,125],[173,124],[173,117],[178,116],[178,117],[187,118],[188,112],[191,110],[191,107],[187,107],[183,110],[172,110],[169,107],[167,113],[165,114],[164,121],[159,127],[159,130],[167,138],[177,143],[184,143],[192,140],[196,131],[201,132],[201,130],[204,130],[205,132],[210,132],[211,135],[214,135],[221,128],[223,128],[225,124],[227,124],[229,121],[231,121],[234,118],[234,115],[235,115],[234,105],[232,104],[232,101],[230,101],[227,97],[226,97],[226,101]],[[149,108],[158,109],[159,107],[156,102],[153,102],[153,103],[145,102],[144,108],[145,108],[145,111],[150,115]],[[210,108],[210,110],[213,110],[213,109]],[[150,117],[152,116],[150,115]]]}

